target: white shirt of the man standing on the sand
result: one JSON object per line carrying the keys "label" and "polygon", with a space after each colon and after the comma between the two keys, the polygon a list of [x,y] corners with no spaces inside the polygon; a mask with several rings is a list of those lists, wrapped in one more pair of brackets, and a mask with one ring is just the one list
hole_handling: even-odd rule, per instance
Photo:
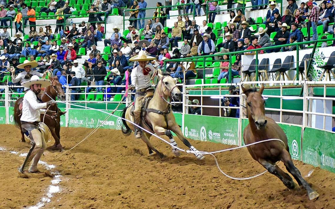
{"label": "white shirt of the man standing on the sand", "polygon": [[46,112],[46,110],[42,108],[46,107],[47,103],[40,103],[36,94],[32,90],[29,90],[23,97],[22,115],[20,120],[25,122],[40,121],[41,113]]}

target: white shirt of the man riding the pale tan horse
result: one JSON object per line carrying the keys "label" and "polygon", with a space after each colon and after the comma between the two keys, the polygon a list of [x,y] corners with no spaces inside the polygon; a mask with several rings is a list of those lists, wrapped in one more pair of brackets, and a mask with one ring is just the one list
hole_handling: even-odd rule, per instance
{"label": "white shirt of the man riding the pale tan horse", "polygon": [[151,86],[150,79],[155,69],[152,67],[152,65],[146,65],[145,67],[151,69],[151,71],[146,76],[143,74],[143,69],[141,66],[134,68],[130,74],[131,84],[135,85],[136,90]]}

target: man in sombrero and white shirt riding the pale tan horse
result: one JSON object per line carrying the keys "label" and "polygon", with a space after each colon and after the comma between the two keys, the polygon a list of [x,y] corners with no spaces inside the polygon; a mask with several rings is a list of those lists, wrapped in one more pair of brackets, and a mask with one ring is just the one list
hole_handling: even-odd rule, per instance
{"label": "man in sombrero and white shirt riding the pale tan horse", "polygon": [[[151,87],[150,79],[155,70],[152,65],[147,65],[147,61],[154,59],[154,57],[147,56],[143,50],[141,50],[137,56],[129,59],[129,61],[137,61],[139,63],[139,65],[131,72],[131,86],[136,89],[134,122],[137,125],[140,125],[141,123],[142,100],[146,95],[146,90]],[[135,136],[136,138],[141,138],[142,129],[136,127]]]}

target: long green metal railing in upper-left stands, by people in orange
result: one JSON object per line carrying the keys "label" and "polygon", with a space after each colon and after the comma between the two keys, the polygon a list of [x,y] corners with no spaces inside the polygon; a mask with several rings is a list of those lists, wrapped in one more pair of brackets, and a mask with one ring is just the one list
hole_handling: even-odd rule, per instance
{"label": "long green metal railing in upper-left stands, by people in orange", "polygon": [[[77,15],[89,15],[89,14],[91,14],[91,13],[82,13],[82,14],[77,14]],[[103,16],[105,16],[105,12],[95,12],[94,14],[102,14],[101,16],[103,17]],[[66,25],[71,25],[71,24],[73,24],[73,23],[75,23],[75,24],[80,24],[81,23],[81,21],[80,22],[73,22],[73,23],[71,23],[71,22],[69,22],[69,23],[66,23],[66,20],[67,19],[71,19],[71,18],[78,18],[78,17],[76,17],[76,16],[74,16],[74,15],[72,15],[72,14],[62,14],[62,15],[51,15],[51,16],[48,16],[48,19],[56,19],[57,17],[59,17],[59,16],[62,16],[63,17],[63,20],[64,20],[64,22],[63,23],[60,23],[60,24],[57,24],[57,23],[55,23],[55,24],[49,24],[49,25],[62,25],[63,27],[64,27],[64,29],[65,29],[65,26]],[[45,18],[45,16],[35,16],[36,17],[36,20],[39,20],[38,18],[40,18],[40,17],[43,17],[43,18]],[[24,19],[29,19],[29,17],[22,17],[23,18],[23,21],[22,21],[22,29],[24,28],[24,26],[30,26],[30,25],[24,25]],[[40,19],[40,20],[42,20],[42,19]],[[86,22],[86,21],[85,21]],[[105,33],[106,33],[106,18],[103,20],[103,21],[94,21],[94,22],[89,22],[89,23],[98,23],[98,22],[100,22],[100,23],[104,23],[104,25],[105,25]],[[39,33],[39,31],[37,30],[37,26],[45,26],[45,24],[36,24],[36,25],[34,25],[35,26],[35,30]],[[24,33],[24,30],[23,30],[23,36],[25,35],[25,33]]]}

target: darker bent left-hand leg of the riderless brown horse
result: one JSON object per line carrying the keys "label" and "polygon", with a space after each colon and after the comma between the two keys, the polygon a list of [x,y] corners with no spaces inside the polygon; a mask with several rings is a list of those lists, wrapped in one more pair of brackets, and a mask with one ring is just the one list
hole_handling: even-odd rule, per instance
{"label": "darker bent left-hand leg of the riderless brown horse", "polygon": [[270,174],[278,177],[288,189],[294,189],[295,184],[292,178],[287,173],[283,172],[277,165],[272,165],[263,159],[259,159],[258,162],[268,170]]}

